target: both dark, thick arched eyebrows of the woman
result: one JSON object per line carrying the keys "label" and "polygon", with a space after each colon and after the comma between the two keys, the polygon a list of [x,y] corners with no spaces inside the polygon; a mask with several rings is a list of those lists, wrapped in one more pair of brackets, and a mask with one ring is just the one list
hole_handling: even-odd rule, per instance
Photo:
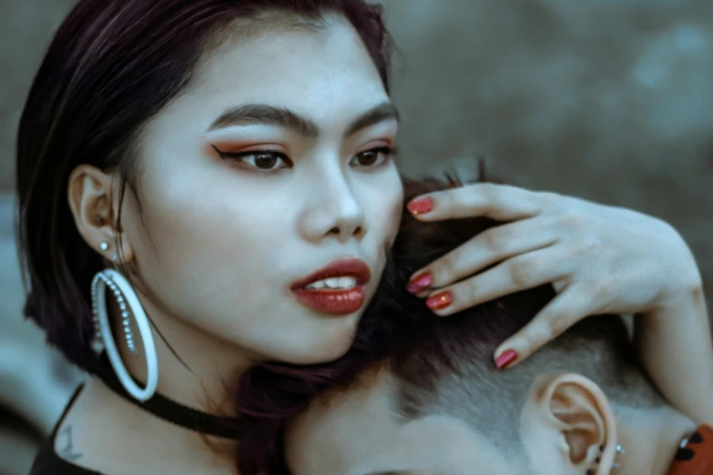
{"label": "both dark, thick arched eyebrows of the woman", "polygon": [[[364,128],[392,119],[398,120],[399,113],[392,103],[384,102],[353,119],[346,127],[344,136],[352,136]],[[209,130],[250,124],[280,126],[308,138],[316,138],[320,135],[320,127],[311,119],[300,116],[285,107],[265,104],[246,104],[244,106],[230,107],[213,121],[209,126]]]}

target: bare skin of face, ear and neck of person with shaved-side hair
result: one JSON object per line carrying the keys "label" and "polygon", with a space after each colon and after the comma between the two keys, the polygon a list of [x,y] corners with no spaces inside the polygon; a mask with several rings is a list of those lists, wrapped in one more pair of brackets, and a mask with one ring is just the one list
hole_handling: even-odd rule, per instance
{"label": "bare skin of face, ear and neck of person with shaved-side hair", "polygon": [[[467,421],[439,414],[403,421],[396,411],[397,385],[388,369],[379,369],[362,375],[347,391],[313,401],[287,433],[290,471],[582,475],[593,470],[595,475],[665,475],[680,441],[696,429],[691,419],[670,407],[617,407],[582,375],[544,374],[530,388],[525,406],[510,408],[519,414],[514,419],[521,445],[510,441],[511,449],[505,452],[504,441],[494,440],[498,429],[485,423],[477,430]],[[617,454],[617,444],[625,453]],[[620,467],[612,471],[615,463]]]}

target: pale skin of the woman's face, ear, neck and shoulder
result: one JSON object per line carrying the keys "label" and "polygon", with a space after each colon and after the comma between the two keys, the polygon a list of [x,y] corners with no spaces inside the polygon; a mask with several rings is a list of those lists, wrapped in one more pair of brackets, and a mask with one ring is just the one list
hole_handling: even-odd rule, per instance
{"label": "pale skin of the woman's face, ear, neck and shoulder", "polygon": [[[147,314],[188,366],[155,335],[158,392],[199,409],[229,409],[226,387],[256,361],[341,356],[362,310],[325,318],[296,303],[290,283],[335,258],[362,258],[372,268],[372,298],[402,212],[401,181],[383,152],[397,120],[384,112],[389,97],[356,32],[330,17],[322,30],[268,33],[224,47],[197,85],[146,126],[138,197],[127,192],[121,229],[116,172],[81,166],[69,181],[80,234],[107,266],[118,254],[131,269]],[[215,126],[227,110],[250,105],[289,109],[319,133],[277,121]],[[221,159],[216,148],[244,154]],[[256,150],[260,156],[248,153]],[[479,214],[474,207],[467,216]],[[573,266],[586,268],[595,257],[588,259]],[[143,359],[126,350],[122,357],[144,380]],[[106,427],[113,430],[98,429]],[[232,460],[198,434],[147,416],[97,379],[59,430],[72,440],[58,438],[56,450],[71,447],[68,460],[96,470],[232,472]]]}

